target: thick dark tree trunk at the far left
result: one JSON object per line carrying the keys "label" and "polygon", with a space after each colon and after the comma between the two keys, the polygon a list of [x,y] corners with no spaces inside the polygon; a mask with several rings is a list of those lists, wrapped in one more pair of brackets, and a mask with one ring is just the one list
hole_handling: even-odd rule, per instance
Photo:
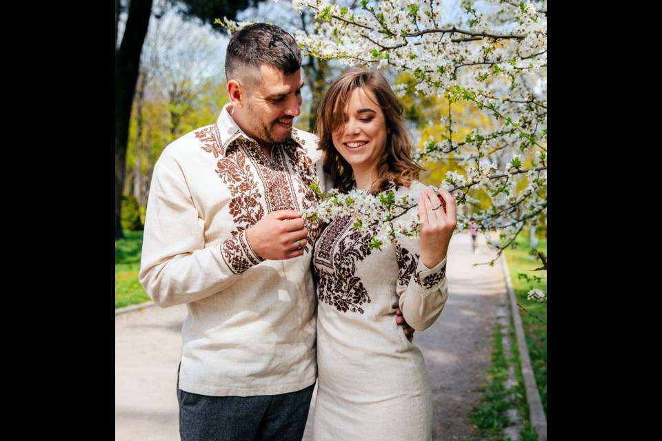
{"label": "thick dark tree trunk at the far left", "polygon": [[[116,3],[117,8],[117,3]],[[131,105],[140,68],[140,54],[152,13],[152,0],[132,0],[122,37],[115,45],[115,239],[123,239],[122,188],[126,174]],[[117,35],[116,35],[117,39]]]}

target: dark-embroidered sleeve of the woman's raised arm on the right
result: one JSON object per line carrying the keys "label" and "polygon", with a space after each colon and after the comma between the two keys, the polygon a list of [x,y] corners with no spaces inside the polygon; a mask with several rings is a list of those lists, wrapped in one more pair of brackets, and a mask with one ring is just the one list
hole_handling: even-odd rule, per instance
{"label": "dark-embroidered sleeve of the woman's raised arm on the right", "polygon": [[417,331],[428,329],[448,298],[448,256],[434,268],[428,268],[421,261],[417,241],[403,239],[395,247],[399,269],[396,290],[403,317]]}

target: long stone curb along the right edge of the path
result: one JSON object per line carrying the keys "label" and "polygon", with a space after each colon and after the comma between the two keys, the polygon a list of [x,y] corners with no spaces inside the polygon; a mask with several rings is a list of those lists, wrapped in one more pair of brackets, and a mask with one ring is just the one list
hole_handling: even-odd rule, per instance
{"label": "long stone curb along the right edge of the path", "polygon": [[524,390],[526,392],[526,401],[529,405],[529,418],[532,427],[534,427],[538,434],[538,441],[547,441],[547,418],[545,417],[545,411],[543,411],[543,402],[540,399],[540,392],[538,391],[536,378],[533,375],[531,358],[529,357],[526,339],[524,338],[522,318],[519,316],[517,300],[515,298],[514,290],[512,289],[510,271],[508,271],[508,264],[505,262],[505,256],[503,256],[503,254],[501,254],[501,268],[503,269],[503,278],[505,279],[505,286],[508,288],[508,296],[510,298],[510,309],[512,322],[515,325],[517,346],[519,347],[519,359],[521,361]]}

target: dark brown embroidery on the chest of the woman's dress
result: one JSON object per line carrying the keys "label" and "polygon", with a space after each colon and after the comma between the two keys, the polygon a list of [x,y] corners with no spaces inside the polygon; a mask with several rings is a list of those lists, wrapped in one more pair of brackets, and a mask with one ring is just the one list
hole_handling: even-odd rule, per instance
{"label": "dark brown embroidery on the chest of the woman's dress", "polygon": [[[317,298],[327,305],[335,307],[338,311],[363,314],[361,305],[370,303],[371,300],[368,291],[361,283],[361,278],[356,276],[356,263],[370,254],[371,249],[368,243],[374,232],[357,230],[345,235],[351,225],[353,223],[350,216],[338,217],[320,236],[320,243],[315,247],[314,255],[315,272],[319,276]],[[321,260],[320,252],[325,256],[332,253],[331,265],[329,262]],[[321,269],[318,264],[330,266],[331,271]]]}

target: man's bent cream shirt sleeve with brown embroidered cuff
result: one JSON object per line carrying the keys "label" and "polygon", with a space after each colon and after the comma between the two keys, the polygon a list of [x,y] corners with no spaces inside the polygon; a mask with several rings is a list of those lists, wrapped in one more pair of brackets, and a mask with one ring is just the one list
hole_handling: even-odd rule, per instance
{"label": "man's bent cream shirt sleeve with brown embroidered cuff", "polygon": [[217,294],[263,260],[245,231],[205,247],[205,223],[193,201],[181,165],[164,152],[152,176],[139,272],[141,285],[161,307]]}

